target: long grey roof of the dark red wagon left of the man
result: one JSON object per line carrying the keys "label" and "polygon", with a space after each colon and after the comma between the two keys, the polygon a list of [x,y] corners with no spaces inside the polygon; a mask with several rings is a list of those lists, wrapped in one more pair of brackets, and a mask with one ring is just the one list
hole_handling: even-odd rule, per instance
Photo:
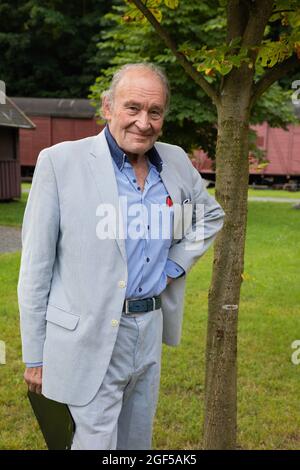
{"label": "long grey roof of the dark red wagon left of the man", "polygon": [[91,119],[95,108],[89,100],[64,98],[13,98],[15,103],[30,116],[51,116]]}

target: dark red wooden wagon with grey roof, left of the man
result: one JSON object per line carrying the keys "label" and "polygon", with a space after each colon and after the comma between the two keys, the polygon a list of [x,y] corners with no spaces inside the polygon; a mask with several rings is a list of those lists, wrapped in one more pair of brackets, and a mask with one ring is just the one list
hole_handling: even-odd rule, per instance
{"label": "dark red wooden wagon with grey roof, left of the man", "polygon": [[31,176],[39,152],[65,140],[96,135],[95,108],[85,99],[14,98],[17,105],[36,125],[34,132],[20,132],[22,176]]}

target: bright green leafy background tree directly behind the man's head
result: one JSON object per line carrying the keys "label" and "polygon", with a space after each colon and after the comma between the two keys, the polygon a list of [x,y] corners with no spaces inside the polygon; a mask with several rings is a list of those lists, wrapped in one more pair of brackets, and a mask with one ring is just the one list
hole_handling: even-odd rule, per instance
{"label": "bright green leafy background tree directly behind the man's head", "polygon": [[[182,73],[176,57],[169,48],[164,47],[149,22],[131,21],[126,13],[127,9],[122,0],[115,1],[112,11],[103,19],[105,27],[99,33],[95,61],[99,61],[101,74],[91,87],[90,95],[98,111],[101,92],[108,87],[113,73],[120,65],[140,61],[158,63],[166,70],[172,90],[170,112],[166,117],[162,140],[176,143],[188,152],[202,148],[214,159],[217,139],[216,107],[204,90],[187,74]],[[163,25],[168,34],[176,31],[180,41],[188,42],[193,48],[205,45],[213,48],[216,43],[226,41],[224,8],[220,7],[218,0],[185,0],[180,3],[176,15],[164,7]],[[109,67],[101,67],[101,61],[109,64]],[[207,79],[210,79],[209,75]],[[287,123],[294,122],[290,95],[290,89],[274,84],[254,106],[251,124],[268,121],[271,126],[285,127]],[[251,137],[251,153],[263,157],[263,153],[255,145],[255,135]]]}

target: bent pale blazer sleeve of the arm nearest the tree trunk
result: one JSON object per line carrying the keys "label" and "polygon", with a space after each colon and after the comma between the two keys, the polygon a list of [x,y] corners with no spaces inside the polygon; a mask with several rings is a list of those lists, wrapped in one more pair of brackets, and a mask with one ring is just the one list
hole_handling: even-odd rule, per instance
{"label": "bent pale blazer sleeve of the arm nearest the tree trunk", "polygon": [[[215,200],[207,192],[201,175],[186,155],[186,164],[191,175],[191,205],[190,223],[183,230],[183,236],[169,250],[168,258],[179,264],[186,273],[193,264],[207,251],[216,238],[224,223],[225,213]],[[181,209],[184,207],[182,205]]]}

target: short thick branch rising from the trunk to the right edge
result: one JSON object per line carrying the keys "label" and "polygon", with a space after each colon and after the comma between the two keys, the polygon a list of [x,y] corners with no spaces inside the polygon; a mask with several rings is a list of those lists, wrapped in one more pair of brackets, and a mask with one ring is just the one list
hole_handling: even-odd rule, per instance
{"label": "short thick branch rising from the trunk to the right edge", "polygon": [[300,70],[300,60],[296,54],[293,54],[285,61],[280,62],[280,64],[277,64],[272,67],[272,69],[268,70],[254,85],[251,104],[253,105],[274,82],[284,77],[288,72],[294,70],[297,65]]}

